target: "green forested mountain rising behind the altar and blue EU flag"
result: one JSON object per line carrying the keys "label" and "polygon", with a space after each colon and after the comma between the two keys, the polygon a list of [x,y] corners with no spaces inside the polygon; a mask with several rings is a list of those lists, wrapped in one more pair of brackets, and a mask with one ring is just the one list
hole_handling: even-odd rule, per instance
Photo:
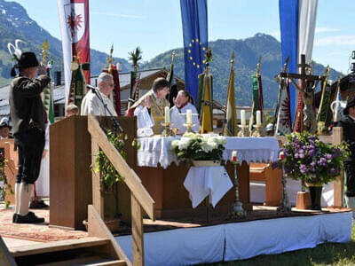
{"label": "green forested mountain rising behind the altar and blue EU flag", "polygon": [[[212,49],[213,61],[210,70],[213,74],[213,97],[225,104],[229,81],[230,60],[232,51],[235,52],[234,73],[236,100],[238,106],[251,106],[252,74],[256,72],[256,64],[261,60],[261,74],[264,92],[264,107],[276,106],[278,83],[274,76],[280,73],[283,66],[281,59],[281,43],[271,35],[256,34],[244,40],[217,40],[209,42]],[[142,68],[170,68],[171,52],[176,51],[174,73],[181,78],[184,74],[184,53],[182,48],[166,51],[150,60]],[[325,66],[314,64],[313,74],[324,74]],[[330,79],[336,80],[338,72],[330,69]]]}

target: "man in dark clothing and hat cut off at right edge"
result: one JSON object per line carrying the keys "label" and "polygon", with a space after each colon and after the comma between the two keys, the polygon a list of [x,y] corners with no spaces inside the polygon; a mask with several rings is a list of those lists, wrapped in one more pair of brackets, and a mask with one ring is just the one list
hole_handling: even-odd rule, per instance
{"label": "man in dark clothing and hat cut off at right edge", "polygon": [[352,208],[352,216],[355,219],[355,98],[348,100],[343,110],[344,117],[339,122],[343,127],[343,140],[349,144],[351,155],[344,161],[346,180],[346,204]]}

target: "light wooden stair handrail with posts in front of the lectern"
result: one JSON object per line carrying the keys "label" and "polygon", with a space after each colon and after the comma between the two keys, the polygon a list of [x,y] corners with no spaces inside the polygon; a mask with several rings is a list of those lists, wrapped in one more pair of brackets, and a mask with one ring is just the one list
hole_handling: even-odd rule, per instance
{"label": "light wooden stair handrail with posts in front of the lectern", "polygon": [[[154,220],[155,202],[146,191],[136,172],[130,168],[126,160],[114,148],[114,145],[108,141],[105,132],[99,126],[93,116],[88,117],[88,130],[91,134],[91,154],[98,154],[101,149],[108,160],[114,165],[114,168],[122,176],[123,182],[130,189],[131,201],[131,226],[132,226],[132,247],[133,247],[133,265],[144,265],[144,238],[143,238],[143,215],[142,209]],[[92,169],[95,169],[95,157],[92,157]],[[104,218],[104,204],[102,194],[102,180],[100,181],[92,170],[92,205],[95,207],[101,218]],[[120,258],[126,255],[120,251]]]}

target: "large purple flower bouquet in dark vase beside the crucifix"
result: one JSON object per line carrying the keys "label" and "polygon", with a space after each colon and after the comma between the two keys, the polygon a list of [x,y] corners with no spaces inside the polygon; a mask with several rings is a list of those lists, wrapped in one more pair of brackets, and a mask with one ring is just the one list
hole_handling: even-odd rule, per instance
{"label": "large purple flower bouquet in dark vase beside the crucifix", "polygon": [[319,137],[304,131],[287,136],[283,145],[284,172],[292,179],[307,184],[312,209],[320,210],[322,185],[334,181],[343,168],[343,160],[349,155],[345,143],[325,144]]}

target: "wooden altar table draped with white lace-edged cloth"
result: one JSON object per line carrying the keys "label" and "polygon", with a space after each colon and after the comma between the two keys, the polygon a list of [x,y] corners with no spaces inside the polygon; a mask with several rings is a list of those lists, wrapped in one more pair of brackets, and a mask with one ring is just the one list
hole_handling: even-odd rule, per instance
{"label": "wooden altar table draped with white lace-edged cloth", "polygon": [[[155,215],[159,218],[198,215],[206,211],[202,201],[193,208],[184,181],[189,166],[179,162],[174,151],[170,150],[173,140],[180,137],[140,137],[138,141],[137,174],[155,201]],[[237,151],[240,164],[237,176],[240,185],[240,199],[245,209],[251,209],[249,190],[249,162],[272,162],[278,159],[279,143],[275,137],[226,137],[222,166],[233,182],[232,152]],[[211,208],[211,214],[225,213],[231,209],[235,192],[230,189]]]}

